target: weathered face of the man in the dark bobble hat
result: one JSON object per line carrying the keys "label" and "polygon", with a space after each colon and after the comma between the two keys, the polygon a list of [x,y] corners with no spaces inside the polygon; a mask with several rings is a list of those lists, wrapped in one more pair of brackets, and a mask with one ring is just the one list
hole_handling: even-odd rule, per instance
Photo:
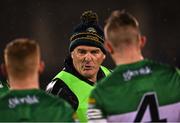
{"label": "weathered face of the man in the dark bobble hat", "polygon": [[105,59],[100,48],[93,46],[77,46],[71,53],[75,69],[84,77],[96,77],[99,67]]}

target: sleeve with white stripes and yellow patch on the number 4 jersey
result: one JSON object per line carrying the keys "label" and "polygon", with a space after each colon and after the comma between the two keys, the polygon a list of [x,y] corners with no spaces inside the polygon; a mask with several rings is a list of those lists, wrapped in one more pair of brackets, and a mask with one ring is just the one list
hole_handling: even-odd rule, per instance
{"label": "sleeve with white stripes and yellow patch on the number 4 jersey", "polygon": [[103,109],[98,103],[98,99],[97,99],[97,96],[95,96],[94,91],[89,97],[87,115],[88,115],[89,123],[97,123],[97,122],[106,123],[107,122]]}

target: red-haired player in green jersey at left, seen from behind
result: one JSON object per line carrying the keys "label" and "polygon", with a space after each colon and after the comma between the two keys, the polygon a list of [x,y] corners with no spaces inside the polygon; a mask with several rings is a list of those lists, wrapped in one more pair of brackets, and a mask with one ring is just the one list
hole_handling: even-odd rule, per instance
{"label": "red-haired player in green jersey at left, seen from behind", "polygon": [[16,39],[4,51],[10,91],[0,98],[0,121],[68,122],[73,109],[62,99],[39,89],[43,71],[39,45],[30,39]]}

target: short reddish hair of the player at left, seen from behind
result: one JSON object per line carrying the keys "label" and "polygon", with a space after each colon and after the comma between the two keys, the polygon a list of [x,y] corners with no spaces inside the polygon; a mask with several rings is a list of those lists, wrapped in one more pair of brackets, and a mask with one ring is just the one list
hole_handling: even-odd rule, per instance
{"label": "short reddish hair of the player at left, seen from behind", "polygon": [[39,59],[40,47],[31,39],[15,39],[4,50],[5,65],[11,76],[23,78],[32,74],[37,69]]}

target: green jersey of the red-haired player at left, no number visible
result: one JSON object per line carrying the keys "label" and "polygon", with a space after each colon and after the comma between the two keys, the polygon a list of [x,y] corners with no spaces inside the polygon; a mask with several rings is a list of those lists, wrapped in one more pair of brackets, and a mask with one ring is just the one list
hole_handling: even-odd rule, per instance
{"label": "green jersey of the red-haired player at left, no number visible", "polygon": [[0,121],[70,122],[73,109],[42,90],[12,90],[0,98]]}

